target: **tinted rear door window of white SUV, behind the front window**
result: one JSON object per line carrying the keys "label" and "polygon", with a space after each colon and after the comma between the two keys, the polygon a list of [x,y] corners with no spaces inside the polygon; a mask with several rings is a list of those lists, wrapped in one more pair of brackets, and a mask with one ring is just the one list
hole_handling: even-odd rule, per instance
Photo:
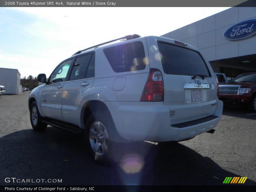
{"label": "tinted rear door window of white SUV, behind the front window", "polygon": [[77,57],[69,80],[84,79],[91,58],[92,54]]}

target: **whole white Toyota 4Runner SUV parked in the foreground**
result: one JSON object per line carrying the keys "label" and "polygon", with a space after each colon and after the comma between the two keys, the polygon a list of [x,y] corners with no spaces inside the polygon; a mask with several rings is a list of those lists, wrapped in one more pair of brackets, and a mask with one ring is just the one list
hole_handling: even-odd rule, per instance
{"label": "whole white Toyota 4Runner SUV parked in the foreground", "polygon": [[[123,140],[181,141],[208,132],[222,114],[218,82],[193,46],[125,36],[76,52],[29,95],[32,127],[85,130],[95,159]],[[112,151],[112,152],[111,152]]]}

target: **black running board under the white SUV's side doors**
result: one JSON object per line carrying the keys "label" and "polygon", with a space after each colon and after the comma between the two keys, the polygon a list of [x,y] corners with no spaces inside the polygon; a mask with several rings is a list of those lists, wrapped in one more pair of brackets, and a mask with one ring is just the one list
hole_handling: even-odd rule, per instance
{"label": "black running board under the white SUV's side doors", "polygon": [[83,131],[83,129],[81,129],[77,125],[57,121],[57,120],[54,120],[54,119],[42,119],[42,122],[46,123],[48,125],[60,128],[60,129],[64,129],[64,130],[69,131],[69,132],[73,132],[73,133],[80,133],[80,132]]}

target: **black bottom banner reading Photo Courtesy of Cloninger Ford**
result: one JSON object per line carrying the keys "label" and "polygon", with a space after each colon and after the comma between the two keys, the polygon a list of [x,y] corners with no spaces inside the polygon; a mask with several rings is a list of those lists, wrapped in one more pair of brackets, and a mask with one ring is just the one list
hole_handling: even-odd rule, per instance
{"label": "black bottom banner reading Photo Courtesy of Cloninger Ford", "polygon": [[246,185],[218,185],[218,186],[0,186],[0,191],[87,191],[87,192],[174,192],[174,191],[255,191],[256,186],[246,186]]}

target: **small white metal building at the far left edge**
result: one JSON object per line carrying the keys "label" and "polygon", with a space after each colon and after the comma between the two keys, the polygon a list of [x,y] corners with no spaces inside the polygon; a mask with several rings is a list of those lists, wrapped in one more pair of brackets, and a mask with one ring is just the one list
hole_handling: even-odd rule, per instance
{"label": "small white metal building at the far left edge", "polygon": [[0,68],[0,85],[5,86],[6,94],[20,94],[20,72],[18,69]]}

